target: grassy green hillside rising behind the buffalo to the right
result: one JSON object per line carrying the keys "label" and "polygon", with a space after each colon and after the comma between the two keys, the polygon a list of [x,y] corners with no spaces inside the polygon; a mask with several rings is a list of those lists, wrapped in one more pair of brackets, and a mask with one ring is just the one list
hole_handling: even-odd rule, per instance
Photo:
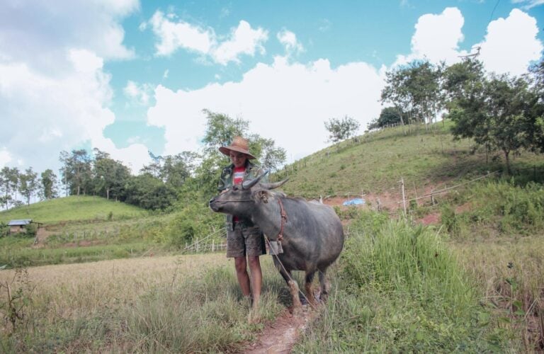
{"label": "grassy green hillside rising behind the buffalo to the right", "polygon": [[[289,178],[282,187],[288,195],[319,198],[361,193],[398,195],[399,181],[404,178],[407,193],[413,195],[504,169],[502,155],[473,151],[469,139],[454,141],[450,125],[446,121],[431,127],[412,125],[409,132],[407,127],[370,132],[285,166],[276,173],[276,179]],[[535,165],[544,165],[543,154],[522,152],[513,161],[514,170]]]}

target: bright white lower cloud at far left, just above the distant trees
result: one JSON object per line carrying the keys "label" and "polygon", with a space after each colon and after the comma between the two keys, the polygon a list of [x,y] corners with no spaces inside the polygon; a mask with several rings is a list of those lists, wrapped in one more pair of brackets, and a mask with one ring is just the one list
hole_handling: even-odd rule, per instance
{"label": "bright white lower cloud at far left, just above the distant trees", "polygon": [[0,130],[6,146],[2,162],[18,161],[35,171],[57,170],[62,150],[88,144],[137,171],[148,161],[147,147],[117,149],[103,137],[103,129],[115,119],[106,108],[112,91],[103,60],[87,50],[71,50],[67,61],[72,65],[64,68],[62,78],[45,76],[23,63],[0,63],[0,117],[2,125],[11,127]]}

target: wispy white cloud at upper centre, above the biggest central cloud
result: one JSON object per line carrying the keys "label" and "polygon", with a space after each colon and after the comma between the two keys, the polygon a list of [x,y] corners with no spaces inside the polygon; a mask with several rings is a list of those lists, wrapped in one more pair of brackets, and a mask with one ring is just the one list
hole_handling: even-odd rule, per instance
{"label": "wispy white cloud at upper centre, above the biggest central cloud", "polygon": [[232,28],[229,36],[222,40],[212,28],[175,20],[173,14],[164,16],[162,11],[157,11],[149,21],[159,39],[155,45],[159,56],[172,55],[181,48],[209,56],[215,62],[226,65],[239,62],[240,55],[254,56],[255,52],[265,52],[263,42],[268,40],[268,32],[262,28],[251,28],[246,21],[240,21],[237,28]]}

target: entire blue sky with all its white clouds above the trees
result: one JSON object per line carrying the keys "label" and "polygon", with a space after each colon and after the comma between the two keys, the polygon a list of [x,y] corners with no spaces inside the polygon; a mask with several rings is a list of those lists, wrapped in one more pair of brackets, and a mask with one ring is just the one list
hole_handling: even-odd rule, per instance
{"label": "entire blue sky with all its white clouds above the trees", "polygon": [[205,108],[292,161],[327,146],[329,118],[363,132],[399,64],[480,46],[519,75],[543,43],[544,0],[2,1],[0,166],[98,147],[137,171],[147,150],[198,151]]}

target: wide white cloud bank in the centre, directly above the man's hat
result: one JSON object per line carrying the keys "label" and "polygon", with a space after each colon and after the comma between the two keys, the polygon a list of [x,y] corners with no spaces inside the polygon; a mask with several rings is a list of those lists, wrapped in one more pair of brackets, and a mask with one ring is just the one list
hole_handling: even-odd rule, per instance
{"label": "wide white cloud bank in the centre, directly above the man's hat", "polygon": [[210,84],[195,91],[171,91],[158,86],[157,103],[147,112],[148,124],[165,128],[164,154],[200,147],[205,130],[202,110],[249,120],[250,130],[271,137],[301,158],[322,149],[327,139],[324,121],[349,115],[362,127],[380,114],[382,76],[365,63],[336,69],[319,59],[307,65],[276,57],[257,64],[242,81]]}

